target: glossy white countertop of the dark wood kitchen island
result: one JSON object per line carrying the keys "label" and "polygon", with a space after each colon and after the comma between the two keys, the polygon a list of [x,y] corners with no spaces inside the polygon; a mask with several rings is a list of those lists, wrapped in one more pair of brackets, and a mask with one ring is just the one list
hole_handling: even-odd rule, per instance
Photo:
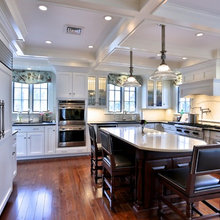
{"label": "glossy white countertop of the dark wood kitchen island", "polygon": [[141,127],[112,127],[102,128],[101,130],[141,150],[189,152],[192,151],[194,145],[207,144],[203,140],[161,132],[154,129],[145,128],[144,133],[142,133]]}

